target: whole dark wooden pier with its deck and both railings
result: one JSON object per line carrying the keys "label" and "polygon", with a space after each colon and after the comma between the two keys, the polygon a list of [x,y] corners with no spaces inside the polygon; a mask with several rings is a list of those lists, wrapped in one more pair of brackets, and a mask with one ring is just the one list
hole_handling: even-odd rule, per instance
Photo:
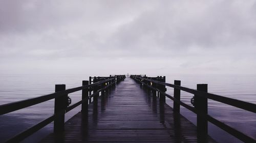
{"label": "whole dark wooden pier with its deck and both railings", "polygon": [[[215,142],[207,132],[211,122],[244,142],[255,139],[207,115],[207,99],[256,112],[256,105],[207,93],[207,84],[198,89],[166,83],[165,77],[111,75],[90,77],[81,87],[65,89],[56,85],[55,93],[0,105],[0,115],[55,99],[54,115],[6,142],[19,142],[54,121],[54,132],[41,142]],[[174,96],[165,93],[174,88]],[[68,94],[82,90],[81,101],[69,106]],[[180,91],[195,94],[195,107],[180,101]],[[165,98],[174,100],[174,109]],[[72,98],[72,97],[71,97]],[[82,105],[81,112],[64,123],[65,113]],[[180,105],[197,114],[197,126],[180,115]]]}

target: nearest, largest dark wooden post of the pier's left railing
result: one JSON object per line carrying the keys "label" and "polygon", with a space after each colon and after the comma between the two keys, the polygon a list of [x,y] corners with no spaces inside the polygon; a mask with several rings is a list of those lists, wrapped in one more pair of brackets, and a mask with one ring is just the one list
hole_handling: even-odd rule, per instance
{"label": "nearest, largest dark wooden post of the pier's left railing", "polygon": [[[55,92],[65,91],[66,85],[65,84],[56,84],[55,85]],[[65,108],[68,105],[68,94],[62,95],[55,98],[54,101],[54,114],[56,115],[60,111],[65,111]],[[58,116],[54,120],[53,130],[54,133],[59,133],[64,130],[64,123],[65,123],[65,112],[62,115]]]}

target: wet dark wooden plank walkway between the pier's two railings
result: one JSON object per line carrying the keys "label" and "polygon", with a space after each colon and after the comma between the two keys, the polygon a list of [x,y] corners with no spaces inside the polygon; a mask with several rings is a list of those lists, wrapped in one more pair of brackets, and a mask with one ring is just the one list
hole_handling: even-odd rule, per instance
{"label": "wet dark wooden plank walkway between the pier's two railings", "polygon": [[[98,98],[97,110],[89,105],[88,120],[79,112],[65,123],[62,134],[52,133],[41,142],[197,142],[194,124],[159,104],[159,98],[133,79],[106,93]],[[210,137],[207,141],[215,142]]]}

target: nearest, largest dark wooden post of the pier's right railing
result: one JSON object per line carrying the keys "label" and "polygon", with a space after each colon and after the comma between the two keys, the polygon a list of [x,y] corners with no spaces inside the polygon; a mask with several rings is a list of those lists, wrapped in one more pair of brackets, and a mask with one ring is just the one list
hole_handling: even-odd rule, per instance
{"label": "nearest, largest dark wooden post of the pier's right railing", "polygon": [[[207,92],[207,84],[197,84],[197,90]],[[197,113],[197,136],[199,142],[205,142],[208,135],[208,122],[206,115],[208,113],[207,97],[195,94],[195,108]]]}

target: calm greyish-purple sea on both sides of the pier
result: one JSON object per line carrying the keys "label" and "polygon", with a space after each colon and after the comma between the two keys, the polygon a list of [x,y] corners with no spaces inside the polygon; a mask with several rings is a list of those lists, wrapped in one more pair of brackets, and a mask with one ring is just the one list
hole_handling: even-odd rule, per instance
{"label": "calm greyish-purple sea on both sides of the pier", "polygon": [[[90,75],[52,75],[52,74],[23,74],[23,75],[0,75],[0,104],[33,98],[54,92],[55,84],[66,84],[66,88],[74,88],[81,85],[82,80],[88,80]],[[108,76],[108,75],[100,75]],[[149,74],[148,76],[156,76]],[[196,84],[207,83],[208,92],[225,97],[239,99],[256,104],[256,75],[227,75],[227,74],[165,74],[166,82],[173,83],[181,80],[184,87],[196,89]],[[173,95],[173,89],[167,88],[167,93]],[[72,103],[79,101],[81,92],[69,95]],[[181,92],[181,100],[190,104],[193,95]],[[171,100],[166,102],[173,106]],[[23,131],[53,114],[54,100],[50,100],[25,109],[14,111],[0,116],[0,142]],[[71,110],[65,116],[66,121],[80,111],[80,106]],[[236,107],[208,100],[208,113],[212,117],[230,125],[256,138],[256,115]],[[181,108],[181,114],[196,124],[196,115],[185,108]],[[218,142],[240,142],[209,123],[209,134]],[[28,137],[24,142],[38,142],[53,131],[52,124],[39,130]]]}

